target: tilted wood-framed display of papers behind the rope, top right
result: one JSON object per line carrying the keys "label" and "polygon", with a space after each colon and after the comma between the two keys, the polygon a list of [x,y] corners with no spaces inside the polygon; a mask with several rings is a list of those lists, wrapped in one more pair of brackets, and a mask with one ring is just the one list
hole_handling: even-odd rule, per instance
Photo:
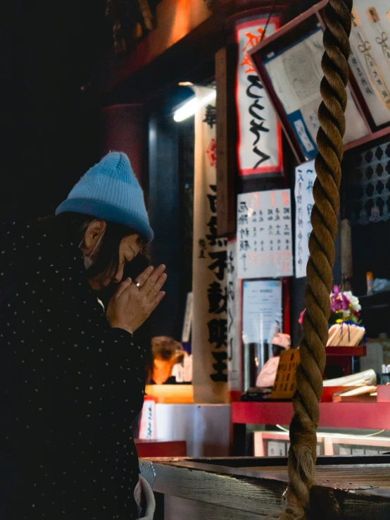
{"label": "tilted wood-framed display of papers behind the rope, top right", "polygon": [[[317,154],[326,4],[316,4],[249,51],[298,163]],[[345,149],[390,133],[390,22],[379,4],[372,8],[368,0],[357,0],[353,11]]]}

